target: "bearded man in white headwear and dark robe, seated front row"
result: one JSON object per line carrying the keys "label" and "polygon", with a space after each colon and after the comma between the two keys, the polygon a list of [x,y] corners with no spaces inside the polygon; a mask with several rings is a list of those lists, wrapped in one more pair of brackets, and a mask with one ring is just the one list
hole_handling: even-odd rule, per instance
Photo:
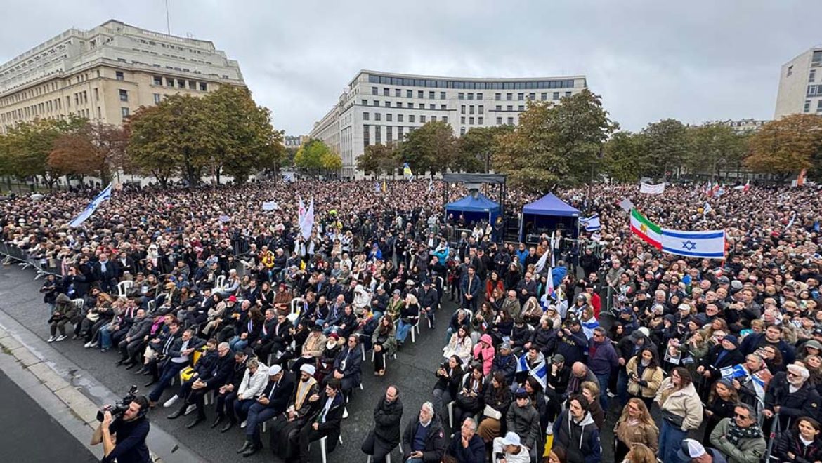
{"label": "bearded man in white headwear and dark robe, seated front row", "polygon": [[[270,433],[270,447],[275,456],[284,458],[292,454],[292,449],[289,448],[290,434],[295,433],[298,429],[306,424],[308,412],[312,410],[312,406],[320,399],[320,384],[314,378],[314,365],[302,364],[299,368],[299,378],[296,385],[293,387],[293,393],[289,397],[288,406],[285,412],[281,415],[276,415],[271,422]],[[270,412],[270,407],[262,404],[252,406],[248,411],[248,427],[252,424],[252,415],[256,413],[263,413],[261,417],[254,418],[256,424],[265,421],[266,415]]]}

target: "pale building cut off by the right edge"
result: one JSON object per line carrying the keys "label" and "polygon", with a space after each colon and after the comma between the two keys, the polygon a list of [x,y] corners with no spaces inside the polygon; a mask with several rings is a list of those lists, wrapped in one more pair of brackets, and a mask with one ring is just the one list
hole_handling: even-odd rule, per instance
{"label": "pale building cut off by the right edge", "polygon": [[822,114],[822,46],[782,66],[774,119],[797,112]]}

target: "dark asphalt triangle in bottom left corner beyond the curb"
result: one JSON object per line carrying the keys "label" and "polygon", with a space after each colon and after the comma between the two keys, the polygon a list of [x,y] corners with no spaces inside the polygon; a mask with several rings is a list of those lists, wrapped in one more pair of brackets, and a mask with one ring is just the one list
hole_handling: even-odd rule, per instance
{"label": "dark asphalt triangle in bottom left corner beyond the curb", "polygon": [[0,461],[99,461],[2,371],[0,391]]}

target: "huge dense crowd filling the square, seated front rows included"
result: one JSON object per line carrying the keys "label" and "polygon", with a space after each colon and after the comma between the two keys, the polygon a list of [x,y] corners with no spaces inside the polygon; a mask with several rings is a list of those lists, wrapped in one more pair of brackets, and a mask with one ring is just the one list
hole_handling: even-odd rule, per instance
{"label": "huge dense crowd filling the square, seated front rows included", "polygon": [[[0,203],[0,226],[58,268],[41,290],[50,342],[118,351],[151,407],[196,412],[189,428],[213,402],[211,427],[241,424],[245,456],[264,423],[287,461],[320,438],[333,450],[368,354],[381,376],[422,327],[444,343],[431,399],[400,429],[386,388],[363,437],[375,461],[399,446],[413,463],[594,463],[605,426],[613,461],[822,461],[820,190],[562,190],[602,230],[526,245],[443,218],[442,188],[125,189],[77,228],[93,192],[61,192]],[[299,198],[316,204],[307,237]],[[726,259],[659,253],[624,199],[663,227],[726,230]]]}

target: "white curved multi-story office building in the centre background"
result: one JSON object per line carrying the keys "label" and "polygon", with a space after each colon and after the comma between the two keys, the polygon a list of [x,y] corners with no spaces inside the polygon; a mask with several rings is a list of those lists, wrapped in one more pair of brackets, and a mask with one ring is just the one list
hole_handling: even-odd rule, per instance
{"label": "white curved multi-story office building in the centre background", "polygon": [[369,144],[403,140],[428,121],[444,121],[455,135],[474,127],[516,124],[526,102],[579,93],[585,76],[474,79],[359,71],[339,101],[314,124],[311,137],[343,161],[341,176],[361,176],[357,158]]}

